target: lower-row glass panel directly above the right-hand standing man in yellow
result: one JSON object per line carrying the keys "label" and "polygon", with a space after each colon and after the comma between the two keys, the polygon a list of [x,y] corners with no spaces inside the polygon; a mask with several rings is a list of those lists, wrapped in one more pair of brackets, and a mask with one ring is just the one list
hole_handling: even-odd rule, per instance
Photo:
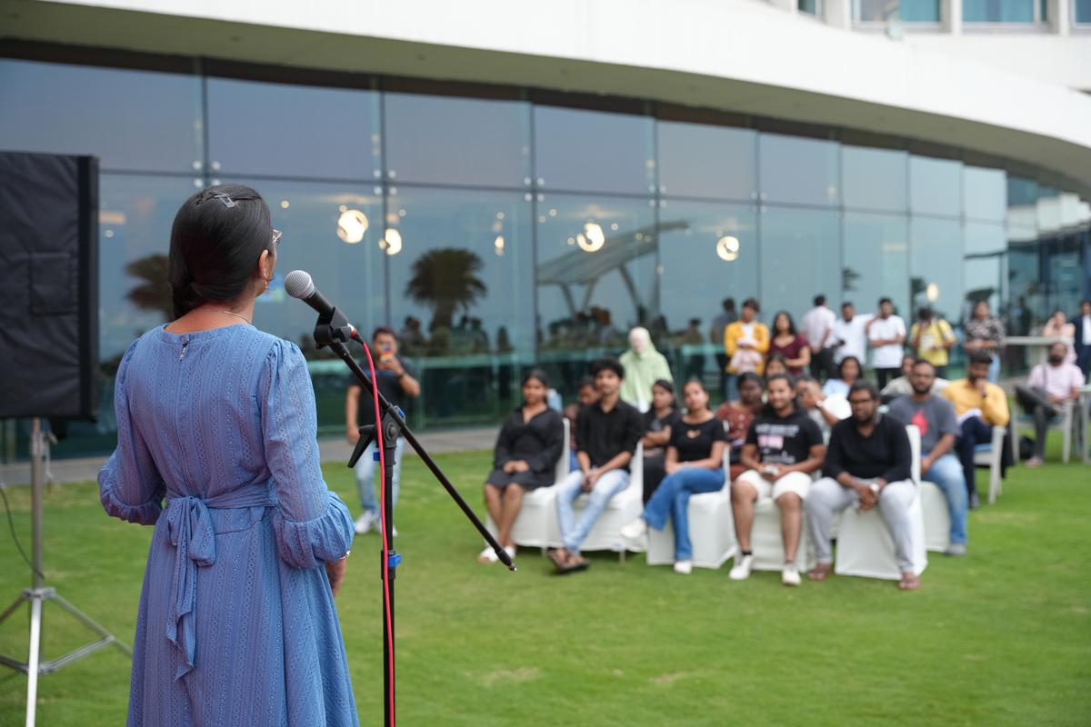
{"label": "lower-row glass panel directly above the right-hand standing man in yellow", "polygon": [[931,306],[951,323],[962,319],[962,223],[936,217],[910,220],[912,308]]}

